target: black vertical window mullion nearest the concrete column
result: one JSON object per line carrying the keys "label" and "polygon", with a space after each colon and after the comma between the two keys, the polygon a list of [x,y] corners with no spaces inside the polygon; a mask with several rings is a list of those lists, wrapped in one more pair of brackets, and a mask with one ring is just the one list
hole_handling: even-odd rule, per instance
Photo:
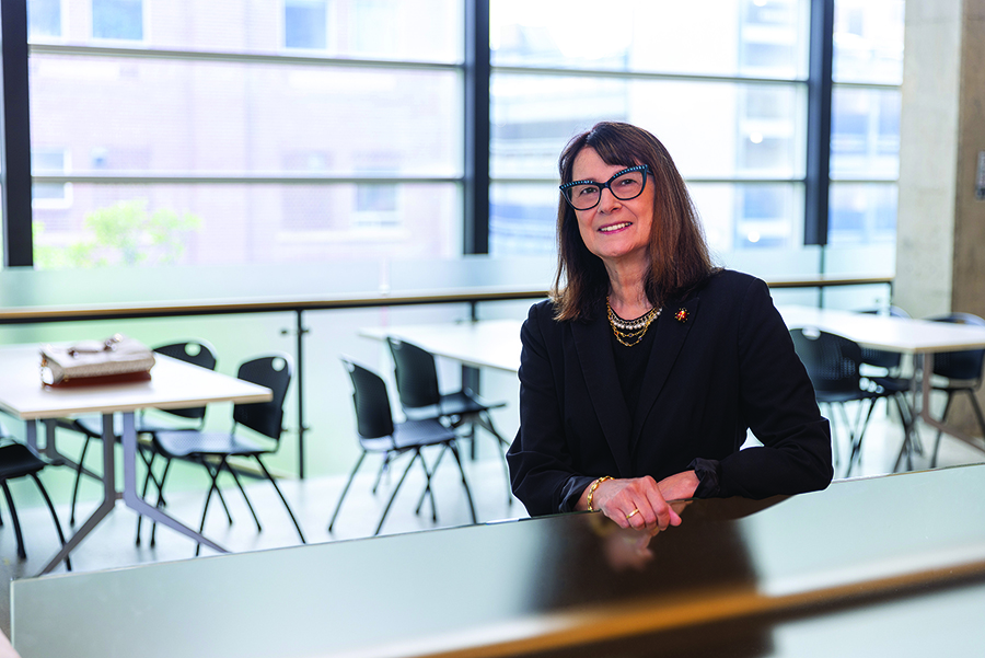
{"label": "black vertical window mullion nearest the concrete column", "polygon": [[811,0],[803,242],[827,244],[834,0]]}

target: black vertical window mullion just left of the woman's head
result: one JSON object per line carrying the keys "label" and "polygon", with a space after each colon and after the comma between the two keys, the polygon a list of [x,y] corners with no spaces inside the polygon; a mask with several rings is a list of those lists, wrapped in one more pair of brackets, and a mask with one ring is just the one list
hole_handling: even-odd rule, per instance
{"label": "black vertical window mullion just left of the woman's head", "polygon": [[463,251],[489,253],[489,0],[465,0]]}

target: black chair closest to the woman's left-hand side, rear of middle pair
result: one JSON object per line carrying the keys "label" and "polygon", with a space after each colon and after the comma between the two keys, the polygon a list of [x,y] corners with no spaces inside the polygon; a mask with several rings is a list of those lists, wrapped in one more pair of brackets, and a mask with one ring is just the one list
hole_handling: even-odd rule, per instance
{"label": "black chair closest to the woman's left-hand side, rear of middle pair", "polygon": [[[473,447],[478,426],[493,435],[500,454],[503,449],[510,447],[509,441],[496,430],[489,414],[489,409],[506,406],[505,402],[486,402],[467,388],[453,393],[441,393],[434,355],[413,343],[392,336],[387,336],[386,343],[393,355],[401,408],[408,420],[443,418],[454,428],[468,425]],[[444,451],[438,455],[438,463],[443,454]],[[434,464],[436,469],[438,463]],[[507,504],[512,505],[513,496],[510,493],[510,474],[506,458],[502,458],[502,467],[507,483]]]}

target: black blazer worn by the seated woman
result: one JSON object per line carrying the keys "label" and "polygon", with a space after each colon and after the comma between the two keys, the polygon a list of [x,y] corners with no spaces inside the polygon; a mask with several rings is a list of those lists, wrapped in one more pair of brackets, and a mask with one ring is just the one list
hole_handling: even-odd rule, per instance
{"label": "black blazer worn by the seated woman", "polygon": [[[696,458],[698,495],[763,498],[831,482],[827,420],[762,280],[721,270],[664,307],[633,418],[605,313],[553,316],[543,301],[523,323],[520,430],[507,454],[531,515],[570,511],[595,477],[660,481]],[[740,451],[749,428],[763,447]]]}

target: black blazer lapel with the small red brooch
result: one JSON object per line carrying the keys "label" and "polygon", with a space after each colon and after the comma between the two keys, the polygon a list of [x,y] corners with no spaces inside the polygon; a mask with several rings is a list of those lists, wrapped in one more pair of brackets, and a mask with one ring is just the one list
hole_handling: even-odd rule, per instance
{"label": "black blazer lapel with the small red brooch", "polygon": [[684,339],[687,338],[687,333],[697,320],[699,301],[700,298],[697,296],[686,302],[671,301],[660,313],[653,350],[650,353],[650,361],[647,363],[647,371],[644,374],[642,390],[639,392],[639,402],[636,404],[636,416],[633,418],[630,451],[636,449],[644,422],[657,403],[657,397],[667,383],[671,368],[677,360],[677,354],[684,345]]}

